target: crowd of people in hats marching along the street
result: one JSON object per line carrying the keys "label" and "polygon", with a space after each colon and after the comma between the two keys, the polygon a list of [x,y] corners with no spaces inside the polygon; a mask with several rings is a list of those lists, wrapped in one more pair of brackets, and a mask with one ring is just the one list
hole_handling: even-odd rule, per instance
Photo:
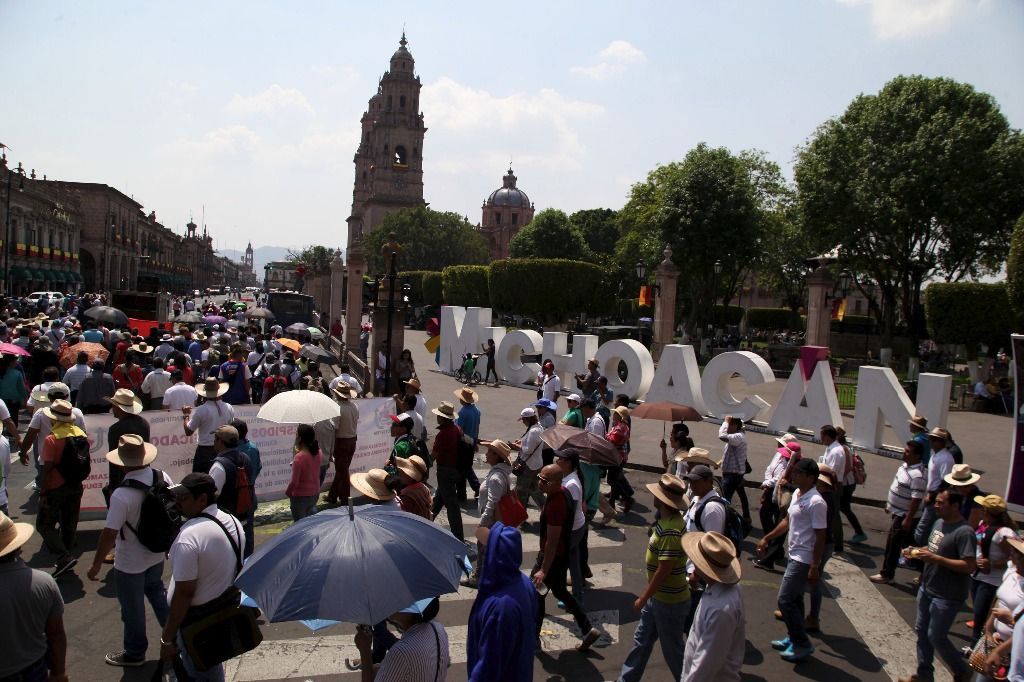
{"label": "crowd of people in hats marching along the street", "polygon": [[[446,521],[456,538],[475,548],[472,570],[462,581],[476,590],[466,645],[470,680],[532,679],[549,593],[572,616],[579,650],[602,638],[600,624],[590,621],[584,606],[593,589],[589,538],[631,513],[637,491],[624,469],[630,401],[608,390],[596,359],[565,389],[553,364],[544,360],[538,395],[520,411],[522,435],[488,439],[481,437],[477,391],[461,387],[454,400],[428,401],[411,354],[403,354],[409,367],[402,368],[400,392],[392,396],[389,456],[377,468],[350,474],[358,447],[357,402],[368,392],[347,366],[328,381],[315,363],[303,363],[289,349],[288,342],[298,340],[281,329],[262,332],[244,323],[204,331],[177,327],[140,338],[80,316],[83,306],[96,302],[83,298],[67,309],[8,318],[0,329],[0,341],[29,351],[4,354],[0,367],[0,391],[10,391],[0,393],[0,422],[9,438],[0,438],[0,456],[9,467],[16,452],[38,471],[35,528],[8,518],[6,470],[0,484],[0,639],[13,643],[12,653],[0,662],[0,680],[67,679],[63,604],[55,581],[74,571],[80,559],[78,510],[89,475],[85,415],[100,412],[115,418],[106,443],[108,511],[86,576],[98,580],[113,564],[124,626],[122,648],[106,653],[105,662],[145,663],[148,603],[162,628],[160,657],[177,660],[194,679],[223,679],[219,665],[201,670],[182,632],[204,606],[232,590],[254,550],[255,483],[262,467],[258,449],[247,438],[248,425],[232,406],[265,400],[281,390],[321,391],[339,410],[333,420],[296,429],[286,491],[295,520],[350,501],[387,505]],[[60,350],[81,341],[105,345],[109,354],[91,364],[79,355],[61,371]],[[254,381],[261,373],[265,380]],[[180,413],[182,433],[197,437],[193,471],[178,482],[159,468],[160,453],[142,414],[146,409]],[[557,424],[606,439],[618,461],[598,466],[586,450],[550,446],[545,432]],[[1024,609],[1024,542],[1006,502],[979,489],[981,476],[964,461],[949,432],[929,429],[921,417],[909,426],[914,437],[889,491],[892,524],[883,567],[871,577],[884,584],[895,581],[898,569],[920,572],[919,665],[903,679],[932,679],[936,651],[954,679],[974,674],[968,658],[977,651],[959,651],[948,638],[969,597],[974,635],[991,643],[973,665],[983,677],[1024,679],[1021,652],[1015,650],[1024,648],[1024,634],[1015,636]],[[820,445],[779,436],[760,486],[762,537],[752,545],[744,541],[754,525],[744,428],[742,420],[726,418],[713,449],[697,446],[687,426],[677,423],[659,443],[665,473],[645,486],[654,511],[645,519],[646,587],[633,603],[639,620],[620,680],[645,679],[655,642],[673,679],[740,679],[744,545],[756,550],[752,566],[784,565],[775,615],[785,632],[770,646],[787,662],[814,654],[808,633],[822,628],[825,566],[847,544],[866,541],[851,506],[864,464],[843,430],[831,425],[817,434]],[[808,453],[812,449],[815,456]],[[474,470],[481,455],[487,465],[482,479]],[[334,480],[325,489],[332,464]],[[738,509],[733,497],[739,498]],[[462,514],[472,507],[471,498],[479,523],[467,537]],[[153,499],[176,502],[184,520],[180,528],[159,532],[150,520]],[[539,515],[530,516],[531,506]],[[844,518],[853,531],[849,538]],[[18,557],[34,530],[53,562],[50,572],[32,569]],[[526,565],[524,534],[537,534],[540,542]],[[163,579],[166,561],[169,585]],[[364,680],[444,680],[451,654],[447,633],[436,619],[439,609],[435,599],[360,628],[354,639],[360,657],[351,668],[361,671]]]}

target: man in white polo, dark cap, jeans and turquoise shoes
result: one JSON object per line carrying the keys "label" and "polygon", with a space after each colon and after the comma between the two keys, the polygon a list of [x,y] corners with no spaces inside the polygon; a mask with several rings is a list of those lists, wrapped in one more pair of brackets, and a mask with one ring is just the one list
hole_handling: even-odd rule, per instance
{"label": "man in white polo, dark cap, jeans and turquoise shoes", "polygon": [[778,608],[788,636],[771,643],[783,660],[796,663],[814,653],[807,637],[804,620],[804,592],[809,584],[820,580],[818,574],[828,527],[828,504],[818,494],[818,463],[805,458],[793,468],[793,494],[788,514],[758,543],[758,554],[764,554],[768,543],[788,532],[790,562],[778,588]]}

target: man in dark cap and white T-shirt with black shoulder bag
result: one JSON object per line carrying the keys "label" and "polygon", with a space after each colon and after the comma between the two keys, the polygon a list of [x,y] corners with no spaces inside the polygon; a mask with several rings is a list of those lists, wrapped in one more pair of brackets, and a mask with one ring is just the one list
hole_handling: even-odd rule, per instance
{"label": "man in dark cap and white T-shirt with black shoulder bag", "polygon": [[217,508],[216,485],[209,474],[190,473],[172,488],[188,521],[171,545],[170,614],[160,637],[161,659],[180,654],[195,679],[223,680],[218,664],[199,673],[181,642],[180,628],[190,608],[222,595],[242,570],[242,523]]}

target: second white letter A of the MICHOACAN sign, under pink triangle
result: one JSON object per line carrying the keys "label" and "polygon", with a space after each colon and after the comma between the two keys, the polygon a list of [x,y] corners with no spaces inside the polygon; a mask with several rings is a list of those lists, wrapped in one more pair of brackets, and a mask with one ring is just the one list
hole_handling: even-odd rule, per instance
{"label": "second white letter A of the MICHOACAN sign, under pink triangle", "polygon": [[807,429],[817,433],[825,424],[843,426],[831,368],[824,360],[818,361],[810,381],[805,382],[798,359],[794,363],[790,380],[775,406],[768,428],[772,431]]}

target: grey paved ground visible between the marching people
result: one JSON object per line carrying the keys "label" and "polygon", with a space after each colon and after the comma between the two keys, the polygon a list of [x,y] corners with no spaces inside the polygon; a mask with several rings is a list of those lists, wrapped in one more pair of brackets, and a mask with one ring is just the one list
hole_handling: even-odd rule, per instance
{"label": "grey paved ground visible between the marching people", "polygon": [[[414,352],[425,394],[431,406],[439,400],[452,400],[453,391],[459,386],[452,378],[433,371],[432,356],[423,349],[425,337],[421,333],[407,332],[406,345]],[[755,387],[769,402],[781,392],[782,384]],[[479,407],[483,414],[481,437],[513,439],[521,435],[516,421],[519,410],[532,401],[532,392],[526,389],[502,386],[477,387]],[[736,391],[739,392],[738,387]],[[848,430],[852,420],[845,416]],[[950,413],[948,428],[962,444],[966,461],[984,472],[980,483],[985,491],[1001,493],[1006,480],[1006,459],[1010,443],[1011,421],[1005,417],[973,413]],[[717,426],[691,425],[691,434],[697,445],[717,453]],[[634,421],[631,462],[655,466],[659,462],[657,441],[662,437],[662,424],[642,420]],[[894,442],[895,436],[887,436]],[[774,441],[766,435],[750,435],[750,455],[754,474],[750,479],[759,480],[761,471],[772,454]],[[817,446],[805,444],[805,454],[817,456]],[[160,461],[156,462],[157,467]],[[858,488],[858,496],[881,500],[891,480],[896,462],[882,457],[867,457],[868,480]],[[482,473],[485,466],[478,463]],[[631,471],[634,486],[655,479],[646,471]],[[33,521],[35,498],[28,488],[31,470],[14,466],[11,471],[11,511],[15,520]],[[755,491],[750,492],[752,495]],[[756,498],[753,500],[756,505]],[[743,675],[746,680],[810,679],[844,682],[853,680],[890,680],[912,672],[914,668],[913,573],[900,571],[894,586],[876,586],[867,577],[878,571],[888,517],[873,506],[855,507],[868,542],[849,546],[843,557],[834,558],[825,571],[825,582],[831,598],[825,600],[821,616],[821,633],[812,637],[817,652],[808,660],[785,664],[768,642],[781,637],[784,628],[774,620],[775,597],[781,574],[758,570],[748,561],[753,545],[760,537],[755,528],[743,548],[743,596],[746,604],[746,655]],[[536,517],[536,512],[531,514]],[[756,516],[756,515],[755,515]],[[586,654],[574,651],[579,643],[571,617],[557,608],[554,598],[549,598],[548,619],[542,630],[542,651],[537,655],[535,679],[538,680],[612,680],[629,650],[638,613],[632,603],[646,579],[643,556],[647,541],[647,525],[652,519],[650,496],[638,492],[637,504],[623,520],[607,529],[591,535],[591,564],[594,569],[594,587],[586,594],[585,608],[603,636],[594,649]],[[444,514],[438,517],[443,522]],[[532,519],[532,520],[536,520]],[[477,521],[472,502],[464,508],[467,536]],[[80,526],[81,549],[91,558],[98,537],[99,521],[87,521]],[[257,544],[280,532],[287,524],[273,524],[257,528]],[[36,536],[26,547],[24,556],[34,566],[48,567],[48,557],[40,553],[41,543]],[[526,534],[523,538],[523,567],[528,568],[536,556],[538,538]],[[148,680],[153,664],[142,669],[118,670],[103,663],[103,653],[120,648],[121,621],[115,597],[110,568],[104,570],[101,582],[85,580],[85,571],[60,579],[59,585],[67,602],[68,666],[75,679],[84,680]],[[165,581],[169,581],[169,570]],[[442,599],[439,621],[449,631],[452,643],[453,669],[450,678],[466,678],[465,641],[466,623],[472,606],[474,592],[461,589],[459,593]],[[969,643],[969,631],[963,622],[965,611],[953,628],[953,641],[957,646]],[[155,645],[159,638],[156,622],[150,616],[150,657],[157,654]],[[357,679],[356,674],[345,674],[346,657],[355,657],[352,644],[353,627],[340,625],[311,633],[299,624],[273,624],[263,628],[265,640],[259,648],[231,662],[227,666],[228,679],[232,680],[346,680]],[[655,647],[645,679],[667,680],[669,674]],[[948,675],[937,677],[948,679]]]}

